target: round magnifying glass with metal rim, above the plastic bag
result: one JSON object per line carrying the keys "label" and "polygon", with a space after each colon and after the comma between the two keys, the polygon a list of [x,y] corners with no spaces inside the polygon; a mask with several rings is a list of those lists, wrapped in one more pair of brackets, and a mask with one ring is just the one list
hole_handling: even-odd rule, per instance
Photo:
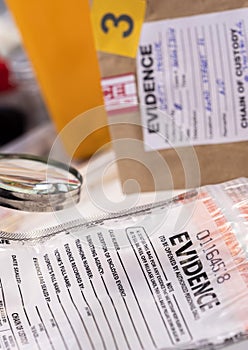
{"label": "round magnifying glass with metal rim, above the plastic bag", "polygon": [[57,211],[79,202],[83,179],[65,163],[27,154],[0,154],[0,206]]}

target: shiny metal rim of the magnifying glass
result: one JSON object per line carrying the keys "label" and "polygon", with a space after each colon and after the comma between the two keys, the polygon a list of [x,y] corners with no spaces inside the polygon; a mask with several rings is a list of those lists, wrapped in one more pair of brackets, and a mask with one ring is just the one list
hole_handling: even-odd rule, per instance
{"label": "shiny metal rim of the magnifying glass", "polygon": [[22,192],[15,192],[14,190],[10,191],[0,188],[0,206],[22,211],[48,212],[62,210],[79,202],[83,177],[71,165],[50,159],[48,157],[30,155],[26,153],[0,153],[0,161],[2,159],[30,160],[42,163],[44,165],[53,166],[73,175],[79,181],[79,185],[78,188],[68,190],[64,193],[55,192],[48,194],[22,194]]}

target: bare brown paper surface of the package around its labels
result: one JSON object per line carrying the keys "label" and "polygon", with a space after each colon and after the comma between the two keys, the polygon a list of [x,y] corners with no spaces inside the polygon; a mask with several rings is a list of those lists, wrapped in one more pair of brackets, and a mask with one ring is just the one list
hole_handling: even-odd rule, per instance
{"label": "bare brown paper surface of the package around its labels", "polygon": [[[242,7],[248,7],[248,0],[148,0],[146,21]],[[99,62],[103,77],[135,73],[136,62],[134,59],[99,53]],[[125,183],[123,190],[126,193],[135,192],[138,189],[137,184],[127,182],[130,179],[137,181],[142,191],[153,191],[195,187],[199,184],[205,185],[248,176],[248,142],[195,146],[194,149],[189,147],[145,152],[141,127],[128,124],[130,120],[136,121],[140,125],[139,113],[123,114],[110,118],[113,141],[128,139],[126,142],[113,143],[121,181],[123,184]],[[113,121],[117,124],[113,125]],[[120,122],[124,124],[120,124]],[[133,140],[138,142],[132,145]]]}

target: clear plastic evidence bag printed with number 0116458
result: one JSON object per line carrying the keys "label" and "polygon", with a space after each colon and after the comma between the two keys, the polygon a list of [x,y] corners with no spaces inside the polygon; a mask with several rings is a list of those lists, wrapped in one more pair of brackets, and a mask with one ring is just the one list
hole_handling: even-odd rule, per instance
{"label": "clear plastic evidence bag printed with number 0116458", "polygon": [[248,332],[248,180],[1,233],[0,349],[220,349]]}

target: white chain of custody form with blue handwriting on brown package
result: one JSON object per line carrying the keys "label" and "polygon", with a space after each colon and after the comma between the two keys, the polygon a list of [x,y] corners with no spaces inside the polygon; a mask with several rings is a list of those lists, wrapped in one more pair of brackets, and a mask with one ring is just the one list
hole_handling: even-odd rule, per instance
{"label": "white chain of custody form with blue handwriting on brown package", "polygon": [[137,55],[145,148],[248,139],[248,9],[144,23]]}

